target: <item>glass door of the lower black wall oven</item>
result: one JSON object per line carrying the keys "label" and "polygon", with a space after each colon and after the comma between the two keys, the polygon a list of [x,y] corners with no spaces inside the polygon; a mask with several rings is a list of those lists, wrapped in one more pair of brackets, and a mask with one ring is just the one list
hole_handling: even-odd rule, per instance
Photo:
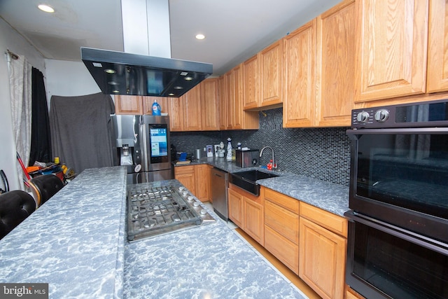
{"label": "glass door of the lower black wall oven", "polygon": [[346,282],[366,298],[448,298],[447,249],[436,247],[378,222],[349,221]]}

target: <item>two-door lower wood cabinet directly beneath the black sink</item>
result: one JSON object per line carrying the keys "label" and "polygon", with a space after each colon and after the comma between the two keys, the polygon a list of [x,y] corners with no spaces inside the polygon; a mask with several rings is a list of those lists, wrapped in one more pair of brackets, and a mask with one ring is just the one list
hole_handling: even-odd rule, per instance
{"label": "two-door lower wood cabinet directly beneath the black sink", "polygon": [[229,218],[255,241],[264,246],[263,196],[252,195],[229,184]]}

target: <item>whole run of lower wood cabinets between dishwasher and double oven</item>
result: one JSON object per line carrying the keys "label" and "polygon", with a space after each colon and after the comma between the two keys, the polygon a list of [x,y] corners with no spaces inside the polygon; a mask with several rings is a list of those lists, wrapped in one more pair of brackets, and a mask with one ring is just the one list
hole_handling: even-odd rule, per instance
{"label": "whole run of lower wood cabinets between dishwasher and double oven", "polygon": [[230,184],[229,218],[322,298],[346,295],[346,218],[261,187]]}

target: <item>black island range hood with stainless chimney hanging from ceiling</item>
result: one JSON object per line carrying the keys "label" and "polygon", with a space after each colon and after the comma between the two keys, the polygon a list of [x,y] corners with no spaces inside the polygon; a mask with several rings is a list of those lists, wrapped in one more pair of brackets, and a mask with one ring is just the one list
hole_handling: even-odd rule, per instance
{"label": "black island range hood with stainless chimney hanging from ceiling", "polygon": [[121,0],[125,52],[81,48],[81,59],[106,95],[181,97],[213,65],[171,57],[169,0]]}

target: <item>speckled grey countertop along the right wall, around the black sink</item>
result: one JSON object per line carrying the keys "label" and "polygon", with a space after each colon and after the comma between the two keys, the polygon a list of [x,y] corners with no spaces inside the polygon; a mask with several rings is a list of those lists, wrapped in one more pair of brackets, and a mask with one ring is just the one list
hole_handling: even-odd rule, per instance
{"label": "speckled grey countertop along the right wall, around the black sink", "polygon": [[[237,167],[235,162],[228,162],[225,158],[201,158],[191,163],[191,165],[195,164],[209,164],[229,173],[249,169],[269,172],[269,170],[260,167]],[[344,212],[349,211],[349,187],[313,179],[308,176],[291,174],[289,172],[273,173],[279,176],[271,179],[258,180],[257,183],[338,216],[344,216]]]}

